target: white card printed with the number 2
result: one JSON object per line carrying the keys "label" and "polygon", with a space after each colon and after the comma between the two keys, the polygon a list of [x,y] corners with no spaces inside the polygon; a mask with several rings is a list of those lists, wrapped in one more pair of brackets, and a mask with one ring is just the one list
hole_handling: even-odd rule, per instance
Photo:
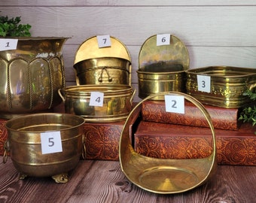
{"label": "white card printed with the number 2", "polygon": [[166,112],[184,114],[184,96],[164,95]]}

